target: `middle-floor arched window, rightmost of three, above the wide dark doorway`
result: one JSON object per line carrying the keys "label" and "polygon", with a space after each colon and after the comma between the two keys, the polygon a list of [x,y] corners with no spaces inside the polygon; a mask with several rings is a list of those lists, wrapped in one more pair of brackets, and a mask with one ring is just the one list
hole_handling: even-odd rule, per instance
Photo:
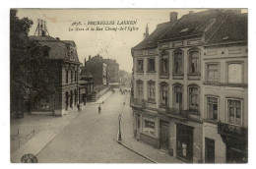
{"label": "middle-floor arched window, rightmost of three, above the wide dark doorway", "polygon": [[199,111],[199,89],[198,87],[189,87],[189,110]]}

